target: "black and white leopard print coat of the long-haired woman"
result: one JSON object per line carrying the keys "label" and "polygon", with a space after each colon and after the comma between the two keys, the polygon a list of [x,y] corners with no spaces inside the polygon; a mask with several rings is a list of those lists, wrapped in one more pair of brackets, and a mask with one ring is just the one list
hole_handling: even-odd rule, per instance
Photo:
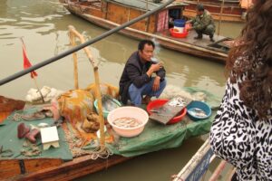
{"label": "black and white leopard print coat of the long-haired woman", "polygon": [[238,180],[272,180],[272,117],[259,120],[239,99],[238,82],[227,82],[210,129],[211,148],[237,167]]}

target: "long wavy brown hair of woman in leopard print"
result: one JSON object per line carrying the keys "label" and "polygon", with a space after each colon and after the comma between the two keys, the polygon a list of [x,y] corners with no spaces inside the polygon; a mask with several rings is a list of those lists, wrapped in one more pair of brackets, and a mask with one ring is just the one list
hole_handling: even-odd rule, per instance
{"label": "long wavy brown hair of woman in leopard print", "polygon": [[240,98],[266,118],[272,99],[272,0],[257,0],[248,10],[238,40],[228,54],[228,76],[232,82],[245,76],[239,83]]}

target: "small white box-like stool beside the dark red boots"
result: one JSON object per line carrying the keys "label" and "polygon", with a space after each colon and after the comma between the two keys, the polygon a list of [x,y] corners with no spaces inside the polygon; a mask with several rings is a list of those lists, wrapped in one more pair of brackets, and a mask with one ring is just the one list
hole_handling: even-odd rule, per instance
{"label": "small white box-like stool beside the dark red boots", "polygon": [[53,148],[59,148],[59,135],[56,126],[40,129],[42,143],[44,150],[53,146]]}

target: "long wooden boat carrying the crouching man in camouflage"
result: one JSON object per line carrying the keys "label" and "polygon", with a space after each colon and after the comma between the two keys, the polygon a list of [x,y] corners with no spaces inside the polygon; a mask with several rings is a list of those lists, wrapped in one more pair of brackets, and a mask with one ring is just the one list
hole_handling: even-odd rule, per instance
{"label": "long wooden boat carrying the crouching man in camouflage", "polygon": [[[152,3],[151,0],[60,0],[60,2],[72,14],[107,29],[124,24],[161,4]],[[186,38],[171,36],[169,14],[176,14],[174,19],[182,19],[182,10],[186,5],[175,2],[160,12],[151,14],[149,18],[122,29],[120,33],[136,39],[154,39],[165,48],[225,63],[229,47],[224,41],[229,39],[215,35],[216,43],[210,43],[209,36],[204,35],[202,40],[195,40],[193,37],[197,34],[194,31],[189,32]],[[218,41],[220,44],[217,44]]]}

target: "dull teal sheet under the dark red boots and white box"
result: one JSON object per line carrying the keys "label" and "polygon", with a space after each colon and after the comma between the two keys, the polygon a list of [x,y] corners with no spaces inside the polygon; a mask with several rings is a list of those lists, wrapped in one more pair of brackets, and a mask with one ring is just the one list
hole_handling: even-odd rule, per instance
{"label": "dull teal sheet under the dark red boots and white box", "polygon": [[[18,113],[26,113],[30,114],[32,112],[36,111],[36,109],[27,109],[27,110],[20,110],[17,111]],[[5,149],[11,149],[14,153],[13,157],[4,157],[11,158],[11,159],[22,159],[22,158],[30,158],[30,157],[24,157],[21,154],[21,149],[23,149],[23,143],[24,138],[17,138],[17,125],[20,124],[22,121],[15,121],[12,119],[13,115],[16,113],[16,111],[10,115],[7,119],[4,120],[3,125],[0,127],[0,147],[3,146]],[[44,122],[48,123],[49,125],[53,124],[52,118],[46,118],[46,119],[37,119],[37,120],[23,120],[25,125],[34,125],[37,126],[39,123]],[[58,128],[58,135],[59,135],[59,148],[49,148],[48,150],[43,150],[42,144],[41,144],[41,138],[37,138],[37,145],[39,145],[40,150],[42,150],[41,155],[35,156],[35,157],[46,157],[46,158],[62,158],[63,160],[72,160],[73,156],[71,151],[69,150],[68,144],[64,137],[64,131],[61,128]],[[27,148],[24,148],[27,149]],[[29,149],[29,148],[28,148]],[[34,158],[34,157],[31,157]]]}

